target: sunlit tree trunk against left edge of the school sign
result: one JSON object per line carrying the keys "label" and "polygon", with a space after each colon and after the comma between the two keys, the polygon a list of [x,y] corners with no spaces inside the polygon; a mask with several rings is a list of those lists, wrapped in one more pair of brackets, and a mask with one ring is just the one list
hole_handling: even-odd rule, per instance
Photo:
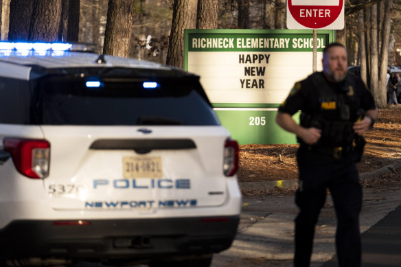
{"label": "sunlit tree trunk against left edge of the school sign", "polygon": [[183,68],[184,29],[196,27],[197,0],[174,0],[166,64]]}

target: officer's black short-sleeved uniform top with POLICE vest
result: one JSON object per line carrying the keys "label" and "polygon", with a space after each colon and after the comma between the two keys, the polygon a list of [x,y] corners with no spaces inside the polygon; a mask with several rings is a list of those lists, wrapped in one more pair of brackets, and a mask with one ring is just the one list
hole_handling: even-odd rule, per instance
{"label": "officer's black short-sleeved uniform top with POLICE vest", "polygon": [[320,72],[295,83],[287,99],[279,106],[279,112],[294,115],[300,110],[304,115],[314,117],[314,121],[319,116],[317,125],[303,125],[302,119],[301,125],[314,126],[323,131],[316,146],[335,147],[352,141],[343,134],[344,125],[347,124],[347,131],[350,132],[348,136],[353,135],[354,121],[364,111],[374,108],[374,99],[360,78],[348,75],[343,82],[332,83]]}

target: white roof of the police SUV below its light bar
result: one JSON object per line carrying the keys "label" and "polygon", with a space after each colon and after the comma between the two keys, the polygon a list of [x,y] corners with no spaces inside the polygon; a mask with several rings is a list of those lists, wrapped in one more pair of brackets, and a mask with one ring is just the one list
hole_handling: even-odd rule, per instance
{"label": "white roof of the police SUV below its light bar", "polygon": [[99,57],[99,54],[78,51],[1,50],[0,76],[30,80],[32,69],[67,69],[78,67],[125,67],[184,72],[175,67],[168,67],[146,60],[104,55],[103,61],[98,62]]}

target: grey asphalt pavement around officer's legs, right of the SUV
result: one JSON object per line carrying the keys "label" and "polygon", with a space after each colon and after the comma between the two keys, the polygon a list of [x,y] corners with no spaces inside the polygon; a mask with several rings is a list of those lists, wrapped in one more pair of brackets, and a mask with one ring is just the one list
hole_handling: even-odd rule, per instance
{"label": "grey asphalt pavement around officer's legs, right of the SUV", "polygon": [[[401,167],[401,160],[360,179],[374,179]],[[297,181],[242,183],[242,191],[270,191],[275,187],[295,189]],[[277,193],[277,191],[276,191]],[[240,228],[229,250],[214,256],[212,267],[293,266],[294,222],[297,215],[293,194],[246,196]],[[319,216],[311,267],[338,266],[334,236],[336,216],[328,197]],[[365,188],[360,213],[363,267],[401,266],[401,184]]]}

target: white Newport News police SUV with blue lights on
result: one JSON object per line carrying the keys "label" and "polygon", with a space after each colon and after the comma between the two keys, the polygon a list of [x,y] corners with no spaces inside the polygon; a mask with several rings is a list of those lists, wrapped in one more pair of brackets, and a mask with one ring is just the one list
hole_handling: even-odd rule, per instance
{"label": "white Newport News police SUV with blue lights on", "polygon": [[198,76],[74,50],[0,43],[1,263],[209,266],[241,195]]}

